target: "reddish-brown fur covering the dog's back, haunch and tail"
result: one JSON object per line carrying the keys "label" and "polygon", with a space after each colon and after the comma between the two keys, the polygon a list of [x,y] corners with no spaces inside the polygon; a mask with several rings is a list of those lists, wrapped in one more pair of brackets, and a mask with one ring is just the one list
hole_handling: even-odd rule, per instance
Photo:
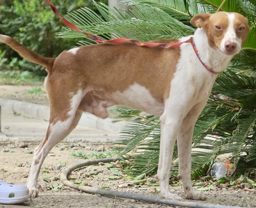
{"label": "reddish-brown fur covering the dog's back, haunch and tail", "polygon": [[[170,82],[180,56],[179,47],[148,48],[125,42],[79,47],[75,54],[64,51],[54,59],[44,58],[8,36],[1,36],[1,41],[10,45],[26,60],[47,67],[45,88],[51,105],[51,124],[68,119],[72,95],[78,90],[88,93],[77,98],[81,99],[79,109],[90,109],[90,113],[102,118],[108,116],[108,106],[118,104],[109,99],[108,95],[122,93],[132,84],[147,88],[152,97],[163,104],[169,96]],[[178,41],[155,42],[172,45]]]}

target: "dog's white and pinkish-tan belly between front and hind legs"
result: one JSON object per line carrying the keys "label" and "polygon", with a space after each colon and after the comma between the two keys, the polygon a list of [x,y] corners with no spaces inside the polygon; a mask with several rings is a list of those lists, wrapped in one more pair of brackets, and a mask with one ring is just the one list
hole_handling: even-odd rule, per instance
{"label": "dog's white and pinkish-tan belly between front and hind legs", "polygon": [[161,116],[164,110],[164,104],[158,102],[147,88],[139,84],[132,84],[122,92],[106,92],[103,89],[92,89],[84,95],[79,109],[100,118],[106,118],[108,117],[106,109],[116,104],[139,109],[157,116]]}

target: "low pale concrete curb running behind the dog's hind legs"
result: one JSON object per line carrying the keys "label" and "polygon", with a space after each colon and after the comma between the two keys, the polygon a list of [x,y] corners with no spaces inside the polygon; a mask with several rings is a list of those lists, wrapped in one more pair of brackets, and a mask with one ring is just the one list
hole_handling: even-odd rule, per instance
{"label": "low pale concrete curb running behind the dog's hind legs", "polygon": [[[49,106],[2,98],[0,98],[0,106],[4,111],[20,113],[21,115],[30,116],[33,118],[42,118],[44,120],[49,120]],[[122,127],[124,127],[126,122],[113,123],[114,120],[115,119],[113,118],[102,119],[90,113],[83,113],[78,125],[92,127],[95,129],[100,129],[102,131],[118,133],[120,132]]]}

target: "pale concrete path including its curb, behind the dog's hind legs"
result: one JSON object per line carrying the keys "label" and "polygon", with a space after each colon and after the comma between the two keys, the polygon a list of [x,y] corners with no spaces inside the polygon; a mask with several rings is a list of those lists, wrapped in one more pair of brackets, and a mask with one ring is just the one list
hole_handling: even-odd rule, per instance
{"label": "pale concrete path including its curb, behind the dog's hind legs", "polygon": [[[49,107],[17,100],[0,98],[1,105],[1,143],[25,140],[31,143],[42,141],[47,131]],[[65,142],[111,142],[116,140],[122,125],[113,124],[110,119],[102,120],[84,113],[76,129]]]}

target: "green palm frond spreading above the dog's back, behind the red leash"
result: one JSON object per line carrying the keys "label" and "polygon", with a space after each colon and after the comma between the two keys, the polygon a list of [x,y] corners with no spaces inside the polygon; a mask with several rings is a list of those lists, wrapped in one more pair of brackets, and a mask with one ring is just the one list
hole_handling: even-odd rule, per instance
{"label": "green palm frond spreading above the dog's back, behind the red leash", "polygon": [[[193,28],[152,6],[136,5],[130,12],[111,10],[104,4],[97,5],[97,8],[104,19],[88,8],[70,12],[65,15],[65,19],[76,24],[83,31],[100,35],[105,39],[124,37],[147,42],[191,35],[194,31]],[[58,35],[63,38],[85,38],[88,42],[88,38],[82,33],[70,29]]]}

